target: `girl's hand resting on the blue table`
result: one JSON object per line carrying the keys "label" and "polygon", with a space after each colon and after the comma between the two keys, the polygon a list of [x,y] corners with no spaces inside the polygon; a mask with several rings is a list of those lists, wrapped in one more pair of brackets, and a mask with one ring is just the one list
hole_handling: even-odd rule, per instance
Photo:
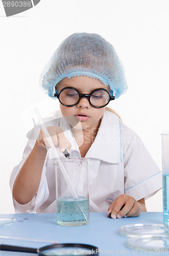
{"label": "girl's hand resting on the blue table", "polygon": [[139,201],[141,202],[139,203],[133,197],[125,194],[120,195],[110,205],[107,212],[107,217],[111,217],[112,219],[120,219],[123,217],[139,216],[141,212],[141,206],[143,205],[144,209],[146,209],[144,199],[141,199]]}

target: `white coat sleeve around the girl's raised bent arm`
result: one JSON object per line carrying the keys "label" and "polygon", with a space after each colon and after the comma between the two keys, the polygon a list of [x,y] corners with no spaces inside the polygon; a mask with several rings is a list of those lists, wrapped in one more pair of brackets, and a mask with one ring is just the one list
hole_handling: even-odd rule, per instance
{"label": "white coat sleeve around the girl's raised bent arm", "polygon": [[[15,182],[16,176],[17,176],[20,168],[22,167],[23,163],[26,161],[27,157],[29,156],[30,152],[32,151],[32,148],[34,147],[35,142],[36,142],[35,140],[28,140],[28,143],[25,147],[25,150],[23,151],[22,160],[12,170],[12,174],[11,174],[11,177],[10,177],[11,191],[13,189],[13,184]],[[33,199],[27,204],[19,204],[13,198],[13,205],[14,205],[14,208],[15,208],[15,212],[17,214],[18,213],[33,213],[33,212],[36,212],[36,210],[42,205],[42,203],[44,203],[47,200],[47,198],[49,197],[49,188],[47,186],[46,175],[45,175],[46,174],[47,158],[48,158],[48,153],[46,154],[46,158],[45,158],[45,161],[44,161],[39,188],[37,190],[36,195],[33,197]]]}

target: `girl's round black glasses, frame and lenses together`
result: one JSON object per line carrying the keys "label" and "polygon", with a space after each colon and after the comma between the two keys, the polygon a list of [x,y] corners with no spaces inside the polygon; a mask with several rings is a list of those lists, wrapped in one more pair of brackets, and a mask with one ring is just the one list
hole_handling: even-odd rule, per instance
{"label": "girl's round black glasses, frame and lenses together", "polygon": [[111,96],[106,89],[95,89],[90,94],[82,94],[73,87],[63,88],[60,93],[54,93],[54,97],[57,97],[64,106],[75,106],[81,98],[85,97],[95,108],[103,108],[110,100],[114,100],[114,95]]}

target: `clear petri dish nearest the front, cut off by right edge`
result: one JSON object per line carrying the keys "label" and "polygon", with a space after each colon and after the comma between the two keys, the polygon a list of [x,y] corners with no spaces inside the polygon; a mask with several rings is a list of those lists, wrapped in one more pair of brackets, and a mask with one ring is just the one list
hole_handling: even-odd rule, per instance
{"label": "clear petri dish nearest the front, cut off by right edge", "polygon": [[133,249],[147,249],[151,250],[151,252],[161,250],[161,253],[166,253],[169,250],[169,236],[168,234],[147,234],[143,236],[129,238],[127,240],[127,245]]}

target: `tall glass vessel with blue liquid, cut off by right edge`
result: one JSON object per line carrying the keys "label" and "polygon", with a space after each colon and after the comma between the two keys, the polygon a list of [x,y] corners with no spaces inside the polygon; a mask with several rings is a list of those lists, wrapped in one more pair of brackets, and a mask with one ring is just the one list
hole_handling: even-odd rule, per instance
{"label": "tall glass vessel with blue liquid, cut off by right edge", "polygon": [[161,140],[163,222],[165,225],[169,225],[169,132],[161,134]]}

